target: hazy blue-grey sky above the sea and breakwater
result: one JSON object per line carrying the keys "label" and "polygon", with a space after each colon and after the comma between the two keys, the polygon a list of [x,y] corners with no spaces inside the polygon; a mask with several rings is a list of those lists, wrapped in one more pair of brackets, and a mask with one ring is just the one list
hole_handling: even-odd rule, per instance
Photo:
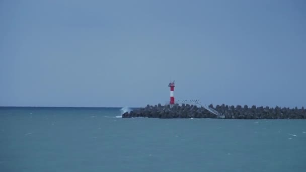
{"label": "hazy blue-grey sky above the sea and breakwater", "polygon": [[0,106],[306,107],[306,3],[0,1]]}

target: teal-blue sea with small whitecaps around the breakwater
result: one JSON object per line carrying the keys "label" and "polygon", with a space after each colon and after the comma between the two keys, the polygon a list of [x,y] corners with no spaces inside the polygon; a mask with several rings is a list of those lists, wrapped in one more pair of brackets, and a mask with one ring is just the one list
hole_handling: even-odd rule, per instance
{"label": "teal-blue sea with small whitecaps around the breakwater", "polygon": [[306,120],[0,107],[0,171],[306,171]]}

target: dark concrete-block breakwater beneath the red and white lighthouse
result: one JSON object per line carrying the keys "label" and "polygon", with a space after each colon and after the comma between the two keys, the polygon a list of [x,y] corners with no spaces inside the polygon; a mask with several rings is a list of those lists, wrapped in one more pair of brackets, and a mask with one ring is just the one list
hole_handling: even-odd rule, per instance
{"label": "dark concrete-block breakwater beneath the red and white lighthouse", "polygon": [[237,105],[209,105],[210,108],[219,112],[219,115],[215,115],[203,107],[197,107],[195,105],[182,104],[182,105],[170,105],[162,106],[161,104],[150,106],[147,105],[144,108],[134,109],[130,112],[122,114],[122,118],[134,118],[134,117],[147,117],[147,118],[225,118],[225,119],[306,119],[306,111],[302,107],[290,109],[286,107],[256,107],[253,105],[249,108],[247,105],[244,107]]}

